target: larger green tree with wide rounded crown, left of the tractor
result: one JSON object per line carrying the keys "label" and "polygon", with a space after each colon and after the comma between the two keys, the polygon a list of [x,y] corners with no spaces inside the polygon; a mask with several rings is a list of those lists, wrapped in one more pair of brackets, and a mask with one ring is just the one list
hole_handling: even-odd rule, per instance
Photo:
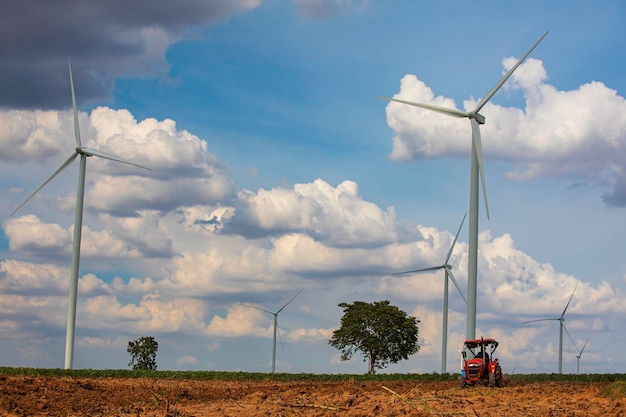
{"label": "larger green tree with wide rounded crown, left of the tractor", "polygon": [[419,351],[419,320],[389,301],[355,301],[339,307],[343,308],[341,327],[328,343],[341,351],[342,361],[359,351],[364,362],[369,360],[369,373],[374,374],[376,368],[408,359]]}

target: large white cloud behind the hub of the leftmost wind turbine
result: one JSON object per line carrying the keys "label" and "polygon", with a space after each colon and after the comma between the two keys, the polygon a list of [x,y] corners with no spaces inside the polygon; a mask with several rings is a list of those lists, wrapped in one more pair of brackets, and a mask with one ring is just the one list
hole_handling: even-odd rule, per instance
{"label": "large white cloud behind the hub of the leftmost wind turbine", "polygon": [[[71,112],[0,111],[0,158],[4,162],[44,159],[72,152]],[[207,144],[187,131],[179,131],[172,120],[145,119],[137,122],[127,110],[99,107],[90,115],[79,113],[84,146],[102,150],[150,166],[142,170],[102,158],[89,158],[85,208],[118,216],[136,216],[138,210],[173,210],[179,206],[211,204],[227,200],[234,186]],[[14,146],[22,132],[26,145]],[[67,150],[58,150],[58,144]],[[56,152],[49,154],[50,149]],[[4,152],[6,150],[6,152]],[[50,174],[48,174],[50,175]],[[43,180],[43,178],[42,178]],[[54,181],[54,180],[53,180]],[[35,186],[31,186],[35,188]],[[74,198],[58,198],[56,204],[73,211]]]}

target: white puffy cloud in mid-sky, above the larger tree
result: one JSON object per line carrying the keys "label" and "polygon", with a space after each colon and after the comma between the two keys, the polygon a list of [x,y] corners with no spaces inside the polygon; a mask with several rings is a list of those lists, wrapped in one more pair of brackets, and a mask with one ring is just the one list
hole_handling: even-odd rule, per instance
{"label": "white puffy cloud in mid-sky, above the larger tree", "polygon": [[397,238],[393,207],[382,211],[359,196],[358,185],[336,188],[317,179],[293,190],[243,191],[225,232],[263,236],[303,232],[330,246],[382,246]]}

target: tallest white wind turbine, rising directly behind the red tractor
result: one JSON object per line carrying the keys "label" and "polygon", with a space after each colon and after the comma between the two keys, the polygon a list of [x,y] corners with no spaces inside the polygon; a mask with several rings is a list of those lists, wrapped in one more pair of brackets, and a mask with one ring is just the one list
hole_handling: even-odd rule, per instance
{"label": "tallest white wind turbine, rising directly behind the red tractor", "polygon": [[485,188],[485,172],[483,164],[483,151],[480,140],[480,125],[485,124],[485,117],[480,114],[480,110],[487,104],[493,95],[502,87],[509,79],[513,71],[519,67],[522,62],[530,55],[530,53],[539,45],[539,42],[546,37],[548,32],[544,33],[537,42],[526,52],[526,54],[517,61],[517,63],[494,85],[489,92],[480,100],[474,110],[461,111],[454,108],[440,107],[432,104],[415,103],[412,101],[400,100],[389,97],[378,96],[383,100],[397,101],[399,103],[409,104],[411,106],[421,107],[423,109],[432,110],[437,113],[446,114],[448,116],[465,118],[470,120],[472,126],[472,156],[470,170],[470,220],[469,220],[469,248],[468,248],[468,268],[467,268],[467,327],[466,338],[476,338],[476,294],[478,287],[477,266],[478,266],[478,177],[482,181],[483,197],[485,200],[485,210],[487,219],[489,219],[489,205],[487,204],[487,190]]}

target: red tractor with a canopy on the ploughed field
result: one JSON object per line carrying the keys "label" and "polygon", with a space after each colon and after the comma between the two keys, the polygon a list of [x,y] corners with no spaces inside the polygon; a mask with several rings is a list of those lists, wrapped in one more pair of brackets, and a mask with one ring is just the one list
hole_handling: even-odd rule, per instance
{"label": "red tractor with a canopy on the ploughed field", "polygon": [[459,384],[461,388],[468,385],[489,385],[503,387],[504,378],[498,359],[493,354],[498,347],[495,339],[466,340],[463,344],[463,356]]}

